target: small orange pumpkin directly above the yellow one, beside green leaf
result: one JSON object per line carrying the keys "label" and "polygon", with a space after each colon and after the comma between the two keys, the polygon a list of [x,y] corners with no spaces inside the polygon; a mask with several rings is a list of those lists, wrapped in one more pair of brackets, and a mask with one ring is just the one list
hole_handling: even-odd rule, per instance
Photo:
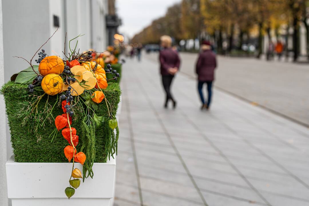
{"label": "small orange pumpkin directly above the yellow one, beside green leaf", "polygon": [[63,70],[63,60],[58,56],[45,57],[39,64],[39,72],[42,76],[46,76],[47,74],[61,74]]}

